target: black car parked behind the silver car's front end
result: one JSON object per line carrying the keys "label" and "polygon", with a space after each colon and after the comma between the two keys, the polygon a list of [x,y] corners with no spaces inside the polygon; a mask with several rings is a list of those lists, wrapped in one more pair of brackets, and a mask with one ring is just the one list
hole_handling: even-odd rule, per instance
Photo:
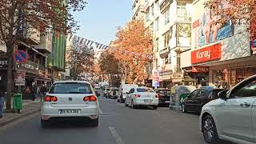
{"label": "black car parked behind the silver car's front end", "polygon": [[223,90],[225,89],[214,89],[212,87],[194,90],[187,98],[183,100],[182,112],[186,113],[187,111],[191,111],[200,113],[202,106],[214,99],[217,99],[218,93]]}

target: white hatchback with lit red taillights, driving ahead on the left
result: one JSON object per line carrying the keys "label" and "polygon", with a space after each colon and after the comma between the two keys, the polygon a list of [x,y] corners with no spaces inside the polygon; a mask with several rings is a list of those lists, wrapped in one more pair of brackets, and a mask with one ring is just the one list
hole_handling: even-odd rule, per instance
{"label": "white hatchback with lit red taillights, driving ahead on the left", "polygon": [[58,120],[90,121],[98,126],[98,115],[98,98],[89,82],[54,82],[42,102],[41,126]]}

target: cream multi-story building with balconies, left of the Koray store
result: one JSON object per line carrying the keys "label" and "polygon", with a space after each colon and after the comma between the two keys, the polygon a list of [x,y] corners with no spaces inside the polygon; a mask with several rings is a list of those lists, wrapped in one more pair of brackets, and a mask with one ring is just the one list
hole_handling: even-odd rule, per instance
{"label": "cream multi-story building with balconies, left of the Koray store", "polygon": [[192,0],[147,0],[142,10],[153,31],[153,71],[161,87],[182,82],[180,54],[191,46],[191,6]]}

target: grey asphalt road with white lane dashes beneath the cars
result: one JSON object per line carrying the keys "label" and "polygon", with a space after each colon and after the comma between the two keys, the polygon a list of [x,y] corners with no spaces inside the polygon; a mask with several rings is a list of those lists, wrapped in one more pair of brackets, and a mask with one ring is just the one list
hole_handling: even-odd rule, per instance
{"label": "grey asphalt road with white lane dashes beneath the cars", "polygon": [[0,128],[1,144],[204,144],[198,115],[159,107],[133,110],[113,99],[100,98],[97,128],[58,123],[42,129],[39,114]]}

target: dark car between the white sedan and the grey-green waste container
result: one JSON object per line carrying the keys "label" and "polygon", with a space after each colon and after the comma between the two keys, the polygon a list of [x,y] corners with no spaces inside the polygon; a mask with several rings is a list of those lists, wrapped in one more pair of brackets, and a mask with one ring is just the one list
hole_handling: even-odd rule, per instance
{"label": "dark car between the white sedan and the grey-green waste container", "polygon": [[159,104],[170,104],[170,89],[156,89],[158,94]]}

